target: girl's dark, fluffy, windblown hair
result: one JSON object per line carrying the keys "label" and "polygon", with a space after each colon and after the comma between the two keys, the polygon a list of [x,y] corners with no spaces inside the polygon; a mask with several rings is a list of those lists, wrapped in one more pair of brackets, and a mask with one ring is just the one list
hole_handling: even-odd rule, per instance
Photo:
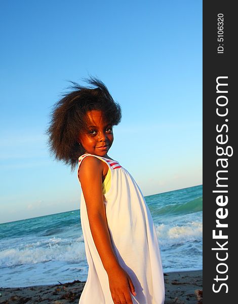
{"label": "girl's dark, fluffy, windblown hair", "polygon": [[85,79],[90,86],[83,87],[74,82],[71,92],[64,94],[56,102],[51,112],[51,120],[47,134],[49,149],[56,160],[61,160],[75,168],[78,157],[85,153],[78,137],[87,128],[86,113],[100,110],[109,124],[118,125],[122,118],[121,106],[116,103],[106,86],[97,78]]}

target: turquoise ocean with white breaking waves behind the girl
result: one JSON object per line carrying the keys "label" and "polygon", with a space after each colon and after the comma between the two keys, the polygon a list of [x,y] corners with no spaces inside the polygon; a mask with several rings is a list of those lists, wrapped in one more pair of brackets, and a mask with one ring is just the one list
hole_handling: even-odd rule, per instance
{"label": "turquoise ocean with white breaking waves behind the girl", "polygon": [[[164,273],[201,270],[203,186],[145,197]],[[80,210],[0,224],[0,287],[86,281]]]}

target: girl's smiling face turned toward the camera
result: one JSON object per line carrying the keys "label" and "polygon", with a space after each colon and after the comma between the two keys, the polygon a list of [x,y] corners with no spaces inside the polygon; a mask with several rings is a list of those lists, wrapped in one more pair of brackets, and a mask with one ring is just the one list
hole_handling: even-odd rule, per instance
{"label": "girl's smiling face turned toward the camera", "polygon": [[86,153],[107,156],[113,142],[112,126],[103,119],[102,111],[87,112],[89,125],[87,131],[80,135],[78,142],[82,144]]}

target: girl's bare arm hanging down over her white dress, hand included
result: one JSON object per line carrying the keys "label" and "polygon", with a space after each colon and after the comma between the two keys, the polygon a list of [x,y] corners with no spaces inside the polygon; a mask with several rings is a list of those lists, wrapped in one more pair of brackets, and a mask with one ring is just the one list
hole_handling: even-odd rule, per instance
{"label": "girl's bare arm hanging down over her white dress, hand included", "polygon": [[135,288],[129,275],[117,261],[111,246],[102,195],[102,161],[88,156],[81,164],[79,177],[84,194],[92,237],[108,275],[114,303],[132,303]]}

